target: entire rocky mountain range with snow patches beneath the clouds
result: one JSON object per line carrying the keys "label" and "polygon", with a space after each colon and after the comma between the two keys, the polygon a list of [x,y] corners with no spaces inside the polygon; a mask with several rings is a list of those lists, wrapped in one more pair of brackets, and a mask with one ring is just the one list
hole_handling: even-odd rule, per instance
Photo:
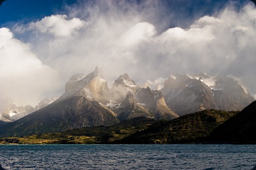
{"label": "entire rocky mountain range with snow patches beneath the clouds", "polygon": [[[46,100],[45,103],[47,103]],[[50,104],[14,122],[1,125],[1,136],[24,136],[94,126],[111,126],[126,119],[146,117],[172,120],[205,109],[242,110],[254,99],[232,78],[206,74],[170,75],[161,90],[141,88],[121,75],[109,89],[102,71],[77,74],[65,93]],[[165,102],[166,101],[166,102]],[[43,102],[44,103],[44,102]]]}

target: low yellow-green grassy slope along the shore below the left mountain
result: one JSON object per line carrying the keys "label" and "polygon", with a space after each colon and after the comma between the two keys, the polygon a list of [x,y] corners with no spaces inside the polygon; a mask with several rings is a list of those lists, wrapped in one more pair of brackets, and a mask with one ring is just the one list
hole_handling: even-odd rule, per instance
{"label": "low yellow-green grassy slope along the shore below the left mountain", "polygon": [[[120,136],[126,137],[132,133],[146,128],[148,125],[155,123],[156,120],[146,117],[136,117],[113,126],[98,126],[92,128],[80,128],[68,130],[65,132],[45,133],[40,135],[30,135],[23,137],[1,138],[0,143],[17,143],[17,144],[96,144],[109,143],[112,138],[121,139]],[[120,136],[114,135],[115,132],[125,131]],[[114,136],[111,136],[114,135]]]}

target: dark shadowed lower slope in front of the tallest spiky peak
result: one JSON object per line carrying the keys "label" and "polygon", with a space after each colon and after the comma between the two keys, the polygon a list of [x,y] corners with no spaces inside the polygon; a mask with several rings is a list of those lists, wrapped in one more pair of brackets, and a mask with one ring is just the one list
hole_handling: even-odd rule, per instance
{"label": "dark shadowed lower slope in front of the tallest spiky peak", "polygon": [[62,132],[82,127],[110,126],[118,122],[114,113],[98,102],[84,96],[71,96],[7,124],[1,129],[0,136]]}

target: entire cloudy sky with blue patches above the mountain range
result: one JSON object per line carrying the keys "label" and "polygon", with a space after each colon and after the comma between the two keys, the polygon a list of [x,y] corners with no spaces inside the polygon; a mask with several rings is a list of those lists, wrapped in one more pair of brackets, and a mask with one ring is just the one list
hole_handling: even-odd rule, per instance
{"label": "entire cloudy sky with blue patches above the mountain range", "polygon": [[[98,65],[112,87],[169,74],[219,74],[256,94],[256,9],[247,0],[7,0],[0,7],[0,98],[35,106]],[[161,79],[159,79],[161,78]]]}

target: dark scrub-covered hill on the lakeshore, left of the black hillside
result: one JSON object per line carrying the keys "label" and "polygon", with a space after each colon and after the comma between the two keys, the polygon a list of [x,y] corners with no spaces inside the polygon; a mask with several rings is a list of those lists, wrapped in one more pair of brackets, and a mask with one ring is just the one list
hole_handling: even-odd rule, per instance
{"label": "dark scrub-covered hill on the lakeshore, left of the black hillside", "polygon": [[168,122],[158,122],[114,143],[191,143],[204,142],[219,125],[237,112],[204,110]]}

